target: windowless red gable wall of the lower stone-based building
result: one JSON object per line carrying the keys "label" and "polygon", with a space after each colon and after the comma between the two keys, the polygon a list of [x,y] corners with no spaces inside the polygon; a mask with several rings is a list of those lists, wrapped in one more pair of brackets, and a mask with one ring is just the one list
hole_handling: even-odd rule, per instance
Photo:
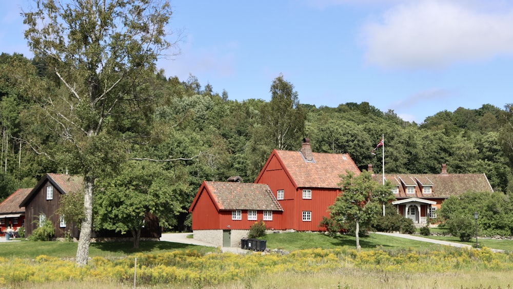
{"label": "windowless red gable wall of the lower stone-based building", "polygon": [[192,229],[219,229],[219,220],[218,210],[215,208],[212,199],[210,199],[206,188],[203,187],[192,211]]}

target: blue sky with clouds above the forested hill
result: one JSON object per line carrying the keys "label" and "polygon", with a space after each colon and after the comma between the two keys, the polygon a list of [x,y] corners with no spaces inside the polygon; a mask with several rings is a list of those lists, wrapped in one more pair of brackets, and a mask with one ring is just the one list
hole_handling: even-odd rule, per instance
{"label": "blue sky with clouds above the forested hill", "polygon": [[[0,52],[31,58],[21,11],[3,2]],[[269,101],[280,74],[302,104],[368,102],[405,121],[513,99],[513,1],[171,0],[157,66],[230,100]]]}

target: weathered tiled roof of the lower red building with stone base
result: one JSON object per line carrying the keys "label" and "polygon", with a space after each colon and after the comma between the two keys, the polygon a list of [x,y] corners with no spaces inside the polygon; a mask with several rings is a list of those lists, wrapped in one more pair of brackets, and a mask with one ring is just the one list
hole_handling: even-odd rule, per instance
{"label": "weathered tiled roof of the lower red building with stone base", "polygon": [[268,185],[253,183],[205,182],[205,186],[224,210],[279,210],[283,211]]}

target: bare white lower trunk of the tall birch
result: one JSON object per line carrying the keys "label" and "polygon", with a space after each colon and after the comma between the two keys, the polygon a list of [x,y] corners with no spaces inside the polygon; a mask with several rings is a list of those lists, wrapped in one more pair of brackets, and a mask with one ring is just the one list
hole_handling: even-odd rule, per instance
{"label": "bare white lower trunk of the tall birch", "polygon": [[87,265],[89,258],[89,243],[91,243],[91,232],[93,224],[93,186],[94,178],[84,177],[84,212],[85,218],[80,228],[78,248],[76,249],[76,264]]}

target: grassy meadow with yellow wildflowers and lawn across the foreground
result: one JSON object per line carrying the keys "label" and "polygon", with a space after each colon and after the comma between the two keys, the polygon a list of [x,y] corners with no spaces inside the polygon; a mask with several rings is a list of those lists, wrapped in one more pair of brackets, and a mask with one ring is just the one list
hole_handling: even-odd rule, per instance
{"label": "grassy meadow with yellow wildflowers and lawn across the foreground", "polygon": [[[133,287],[135,260],[141,288],[509,288],[513,269],[513,254],[486,247],[462,249],[371,234],[362,238],[364,249],[357,252],[354,238],[346,236],[287,233],[266,239],[268,247],[290,253],[236,255],[171,242],[142,242],[133,250],[130,242],[96,243],[88,265],[78,268],[74,243],[2,243],[0,286]],[[44,255],[34,257],[37,250]]]}

